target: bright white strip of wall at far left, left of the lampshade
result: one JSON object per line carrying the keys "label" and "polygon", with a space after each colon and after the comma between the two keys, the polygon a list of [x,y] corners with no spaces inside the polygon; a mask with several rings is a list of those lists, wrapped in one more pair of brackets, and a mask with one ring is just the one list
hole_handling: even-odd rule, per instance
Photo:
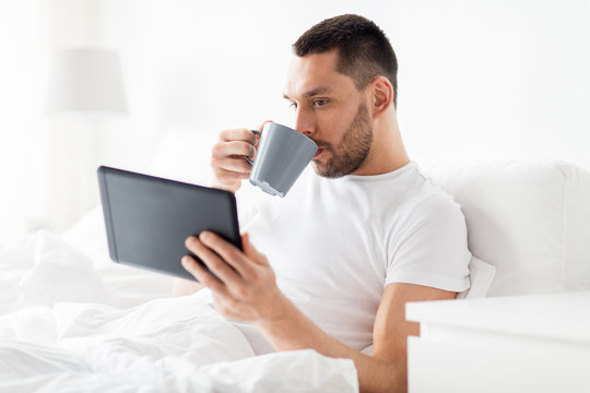
{"label": "bright white strip of wall at far left, left of the lampshade", "polygon": [[0,1],[0,239],[26,231],[45,212],[38,1]]}

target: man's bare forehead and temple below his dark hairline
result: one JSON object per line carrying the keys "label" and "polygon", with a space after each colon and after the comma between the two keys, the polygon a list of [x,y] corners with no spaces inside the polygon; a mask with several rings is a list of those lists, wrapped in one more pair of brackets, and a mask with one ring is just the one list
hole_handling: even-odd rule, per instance
{"label": "man's bare forehead and temple below his dark hairline", "polygon": [[288,67],[285,96],[302,98],[310,93],[339,93],[354,87],[353,80],[337,71],[338,52],[294,56]]}

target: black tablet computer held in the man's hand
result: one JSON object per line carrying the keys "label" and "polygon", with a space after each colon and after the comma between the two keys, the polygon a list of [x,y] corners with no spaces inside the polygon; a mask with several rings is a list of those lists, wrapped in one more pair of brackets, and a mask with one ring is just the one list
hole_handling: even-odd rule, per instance
{"label": "black tablet computer held in the man's hand", "polygon": [[105,166],[97,171],[113,261],[196,281],[180,264],[189,254],[204,266],[185,247],[187,237],[212,230],[241,250],[232,192]]}

